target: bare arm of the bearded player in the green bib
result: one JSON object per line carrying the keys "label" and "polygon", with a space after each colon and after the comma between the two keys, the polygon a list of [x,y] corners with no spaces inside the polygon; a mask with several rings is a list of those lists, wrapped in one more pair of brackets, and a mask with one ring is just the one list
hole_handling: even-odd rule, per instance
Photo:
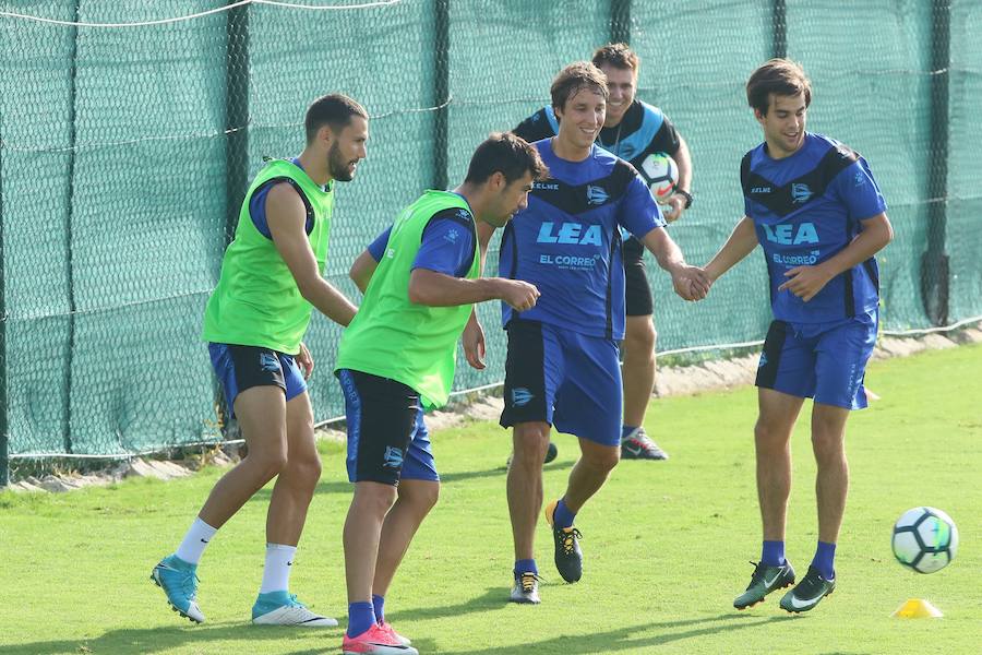
{"label": "bare arm of the bearded player in the green bib", "polygon": [[294,275],[300,295],[328,319],[347,326],[357,308],[321,277],[318,260],[303,230],[307,209],[291,186],[283,183],[270,189],[266,222],[276,250]]}

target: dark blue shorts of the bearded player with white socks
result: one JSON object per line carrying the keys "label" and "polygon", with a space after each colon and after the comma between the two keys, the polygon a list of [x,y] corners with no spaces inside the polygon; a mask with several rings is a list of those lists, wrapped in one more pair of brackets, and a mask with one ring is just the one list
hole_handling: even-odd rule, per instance
{"label": "dark blue shorts of the bearded player with white socks", "polygon": [[212,367],[235,416],[236,398],[253,386],[278,386],[287,402],[307,391],[307,380],[292,355],[258,346],[208,344]]}

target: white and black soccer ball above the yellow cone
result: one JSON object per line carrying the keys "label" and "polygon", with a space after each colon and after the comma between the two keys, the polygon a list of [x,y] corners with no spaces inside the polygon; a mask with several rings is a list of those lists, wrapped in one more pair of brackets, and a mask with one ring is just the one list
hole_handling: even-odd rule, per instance
{"label": "white and black soccer ball above the yellow cone", "polygon": [[894,557],[918,573],[944,569],[958,550],[958,528],[934,508],[907,510],[894,525]]}

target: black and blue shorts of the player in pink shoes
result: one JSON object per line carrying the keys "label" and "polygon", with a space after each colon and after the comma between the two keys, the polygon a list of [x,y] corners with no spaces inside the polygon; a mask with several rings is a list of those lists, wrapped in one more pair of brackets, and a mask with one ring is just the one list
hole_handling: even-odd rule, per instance
{"label": "black and blue shorts of the player in pink shoes", "polygon": [[337,371],[348,422],[348,480],[396,486],[400,479],[439,481],[419,394],[364,373]]}

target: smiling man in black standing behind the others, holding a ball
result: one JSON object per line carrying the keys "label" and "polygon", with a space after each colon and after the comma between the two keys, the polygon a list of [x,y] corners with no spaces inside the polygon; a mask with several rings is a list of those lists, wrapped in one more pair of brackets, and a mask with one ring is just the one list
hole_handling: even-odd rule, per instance
{"label": "smiling man in black standing behind the others, holding a ball", "polygon": [[[597,145],[630,162],[645,178],[643,163],[654,153],[668,154],[679,166],[679,183],[669,196],[663,216],[672,223],[692,206],[692,157],[688,145],[658,107],[635,97],[640,59],[625,44],[609,44],[594,52],[592,62],[607,75],[610,99],[607,119]],[[554,136],[559,129],[555,111],[544,107],[522,121],[513,131],[529,142]],[[646,178],[645,178],[646,179]],[[650,180],[647,180],[650,183]],[[624,365],[624,420],[621,427],[621,457],[624,460],[668,460],[668,453],[645,432],[645,413],[655,390],[654,300],[645,261],[645,247],[625,235],[624,276],[627,314],[621,344]]]}

